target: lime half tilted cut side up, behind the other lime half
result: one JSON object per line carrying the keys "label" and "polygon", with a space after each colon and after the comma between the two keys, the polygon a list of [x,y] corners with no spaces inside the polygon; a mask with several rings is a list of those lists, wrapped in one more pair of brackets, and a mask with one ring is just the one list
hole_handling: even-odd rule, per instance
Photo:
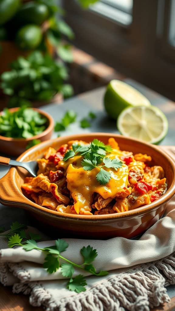
{"label": "lime half tilted cut side up, behind the other lime half", "polygon": [[108,115],[117,119],[128,106],[149,106],[149,100],[134,87],[120,80],[112,80],[104,95],[104,105]]}

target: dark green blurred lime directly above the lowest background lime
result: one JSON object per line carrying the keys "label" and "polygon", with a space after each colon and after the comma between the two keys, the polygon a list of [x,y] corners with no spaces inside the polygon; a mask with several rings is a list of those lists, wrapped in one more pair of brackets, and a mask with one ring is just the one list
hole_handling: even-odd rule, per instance
{"label": "dark green blurred lime directly above the lowest background lime", "polygon": [[33,1],[24,3],[17,13],[18,21],[41,25],[49,17],[49,10],[45,4]]}

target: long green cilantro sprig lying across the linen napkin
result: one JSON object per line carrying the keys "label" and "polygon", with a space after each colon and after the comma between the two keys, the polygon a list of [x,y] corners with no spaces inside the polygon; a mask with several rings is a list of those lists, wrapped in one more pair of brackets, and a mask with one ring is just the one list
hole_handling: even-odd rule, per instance
{"label": "long green cilantro sprig lying across the linen napkin", "polygon": [[93,249],[90,245],[87,247],[83,246],[80,249],[83,263],[79,265],[62,255],[62,253],[65,252],[69,247],[69,244],[64,239],[57,239],[55,241],[55,245],[53,246],[40,248],[37,246],[35,241],[38,238],[38,235],[33,234],[32,238],[32,234],[30,234],[31,239],[26,239],[25,230],[21,230],[23,228],[25,228],[25,226],[19,224],[18,222],[12,224],[9,234],[12,234],[13,232],[15,233],[12,235],[4,234],[8,238],[8,246],[10,248],[14,246],[22,246],[23,249],[27,252],[31,251],[32,249],[44,252],[45,262],[43,264],[43,268],[45,268],[48,273],[54,273],[60,268],[61,274],[69,279],[66,284],[66,288],[69,290],[75,291],[77,293],[86,290],[85,286],[87,285],[87,282],[85,277],[82,274],[78,274],[77,276],[73,277],[75,267],[86,272],[88,271],[95,276],[105,276],[108,274],[107,271],[102,270],[97,272],[96,268],[93,266],[92,262],[95,260],[98,253],[97,250]]}

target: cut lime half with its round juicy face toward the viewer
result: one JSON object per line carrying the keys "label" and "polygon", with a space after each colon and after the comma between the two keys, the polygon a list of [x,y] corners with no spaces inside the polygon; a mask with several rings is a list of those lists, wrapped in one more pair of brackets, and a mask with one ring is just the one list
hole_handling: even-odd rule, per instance
{"label": "cut lime half with its round juicy face toward the viewer", "polygon": [[157,107],[128,107],[119,115],[117,128],[124,136],[158,144],[167,134],[168,121]]}

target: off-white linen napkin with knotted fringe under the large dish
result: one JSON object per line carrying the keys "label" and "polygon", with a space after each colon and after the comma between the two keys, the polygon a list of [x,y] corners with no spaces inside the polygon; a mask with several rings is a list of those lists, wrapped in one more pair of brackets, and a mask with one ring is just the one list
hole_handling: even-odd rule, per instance
{"label": "off-white linen napkin with knotted fringe under the large dish", "polygon": [[[149,311],[169,300],[165,286],[175,284],[174,207],[175,197],[168,203],[166,216],[137,240],[65,239],[69,243],[66,258],[81,264],[79,250],[90,244],[98,252],[94,262],[97,271],[109,271],[103,277],[85,272],[86,292],[77,294],[66,289],[67,280],[60,269],[47,273],[42,267],[42,252],[5,248],[4,238],[0,239],[0,281],[4,286],[12,285],[14,293],[30,294],[30,303],[47,311]],[[44,239],[37,245],[43,248],[55,244],[46,236]],[[73,276],[79,273],[83,274],[77,269]]]}

